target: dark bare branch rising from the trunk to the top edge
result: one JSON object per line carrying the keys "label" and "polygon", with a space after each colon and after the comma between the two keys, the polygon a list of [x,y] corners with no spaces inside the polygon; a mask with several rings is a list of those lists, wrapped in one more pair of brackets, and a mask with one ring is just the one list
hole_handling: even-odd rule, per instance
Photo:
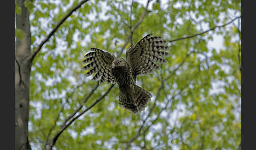
{"label": "dark bare branch rising from the trunk to the top edge", "polygon": [[45,44],[46,41],[48,41],[48,39],[51,38],[51,36],[55,33],[55,31],[65,22],[65,20],[72,15],[73,12],[75,12],[76,9],[80,8],[81,5],[83,5],[85,2],[87,2],[89,0],[84,0],[82,2],[80,2],[78,5],[76,5],[74,8],[72,8],[70,10],[70,12],[67,13],[66,16],[64,16],[61,21],[53,28],[53,30],[51,31],[50,34],[48,34],[45,39],[40,43],[40,45],[36,48],[36,50],[32,53],[31,60],[33,60],[36,56],[36,54],[41,50],[41,48],[43,47],[43,45]]}

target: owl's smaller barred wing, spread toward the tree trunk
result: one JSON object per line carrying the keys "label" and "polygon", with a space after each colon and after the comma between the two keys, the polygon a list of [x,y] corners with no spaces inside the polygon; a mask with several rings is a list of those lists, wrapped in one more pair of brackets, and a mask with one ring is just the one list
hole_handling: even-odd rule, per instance
{"label": "owl's smaller barred wing, spread toward the tree trunk", "polygon": [[110,52],[103,51],[97,48],[91,48],[92,51],[86,53],[84,56],[84,70],[91,69],[86,72],[86,76],[94,74],[92,80],[100,80],[100,84],[107,80],[107,83],[115,83],[115,80],[111,74],[111,63],[115,59],[115,56]]}

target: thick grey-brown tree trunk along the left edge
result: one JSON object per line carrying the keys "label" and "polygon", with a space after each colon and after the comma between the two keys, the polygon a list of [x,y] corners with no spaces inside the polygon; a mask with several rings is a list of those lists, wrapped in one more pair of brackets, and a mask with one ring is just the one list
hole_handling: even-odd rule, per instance
{"label": "thick grey-brown tree trunk along the left edge", "polygon": [[31,75],[31,32],[29,12],[24,6],[25,0],[17,0],[22,8],[16,14],[16,28],[24,32],[23,38],[16,38],[15,45],[15,149],[31,149],[28,141],[29,113],[29,77]]}

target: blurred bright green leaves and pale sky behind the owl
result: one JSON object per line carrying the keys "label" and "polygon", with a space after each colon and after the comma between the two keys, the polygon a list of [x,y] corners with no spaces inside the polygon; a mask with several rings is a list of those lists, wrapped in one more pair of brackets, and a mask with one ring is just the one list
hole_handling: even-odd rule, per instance
{"label": "blurred bright green leaves and pale sky behind the owl", "polygon": [[[32,50],[80,1],[25,1]],[[107,91],[85,77],[91,47],[118,55],[146,1],[88,1],[54,33],[33,61],[29,141],[44,149],[66,117]],[[16,13],[21,9],[16,5]],[[127,49],[146,34],[165,40],[195,35],[241,16],[241,1],[153,0]],[[16,29],[16,37],[22,38]],[[241,143],[241,18],[201,36],[170,42],[161,70],[137,84],[154,96],[141,114],[118,106],[117,85],[60,135],[53,149],[238,149]],[[122,53],[125,57],[125,50]],[[79,113],[78,112],[78,113]],[[77,113],[77,114],[78,114]]]}

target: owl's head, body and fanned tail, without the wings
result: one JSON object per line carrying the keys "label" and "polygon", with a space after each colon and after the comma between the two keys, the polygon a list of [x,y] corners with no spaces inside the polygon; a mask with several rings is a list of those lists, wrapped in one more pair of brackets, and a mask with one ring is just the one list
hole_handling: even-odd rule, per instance
{"label": "owl's head, body and fanned tail, without the wings", "polygon": [[119,84],[119,105],[134,114],[143,111],[152,95],[135,84],[127,61],[117,58],[112,64],[112,74]]}

